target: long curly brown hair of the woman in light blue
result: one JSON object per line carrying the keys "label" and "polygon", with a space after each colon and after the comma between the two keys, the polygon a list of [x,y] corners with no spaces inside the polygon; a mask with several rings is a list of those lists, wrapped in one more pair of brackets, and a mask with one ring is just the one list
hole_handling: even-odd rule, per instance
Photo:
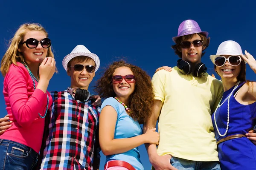
{"label": "long curly brown hair of the woman in light blue", "polygon": [[108,97],[115,97],[116,94],[112,86],[112,77],[116,68],[128,67],[133,72],[136,84],[134,92],[130,96],[130,103],[128,104],[131,112],[129,115],[140,123],[146,122],[152,112],[152,105],[154,103],[154,93],[151,83],[151,77],[136,65],[131,65],[124,60],[113,62],[105,70],[104,75],[96,82],[94,89],[99,96],[106,99]]}

